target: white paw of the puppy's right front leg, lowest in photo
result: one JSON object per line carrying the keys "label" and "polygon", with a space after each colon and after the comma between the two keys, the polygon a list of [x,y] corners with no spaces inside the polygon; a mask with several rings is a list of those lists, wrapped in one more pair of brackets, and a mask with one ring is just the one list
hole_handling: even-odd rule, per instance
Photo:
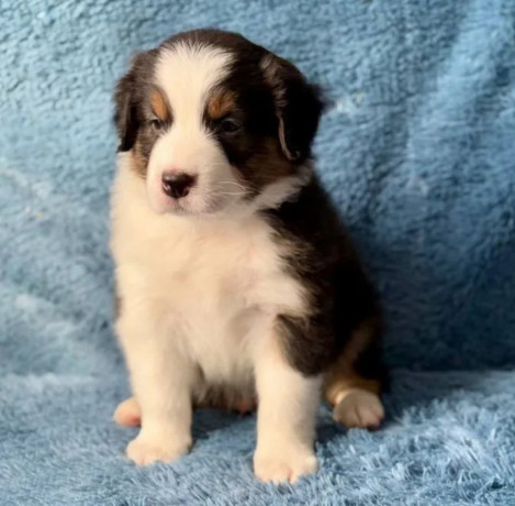
{"label": "white paw of the puppy's right front leg, lowest in photo", "polygon": [[301,476],[317,471],[318,463],[313,450],[291,446],[272,450],[256,450],[254,473],[261,482],[295,483]]}

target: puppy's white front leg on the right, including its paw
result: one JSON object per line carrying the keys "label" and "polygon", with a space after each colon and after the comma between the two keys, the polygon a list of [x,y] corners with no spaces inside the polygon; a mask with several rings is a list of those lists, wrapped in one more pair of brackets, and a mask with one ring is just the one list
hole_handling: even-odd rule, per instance
{"label": "puppy's white front leg on the right, including its paw", "polygon": [[256,354],[259,397],[254,471],[264,482],[295,482],[317,470],[314,453],[322,380],[305,377],[286,360],[270,329]]}

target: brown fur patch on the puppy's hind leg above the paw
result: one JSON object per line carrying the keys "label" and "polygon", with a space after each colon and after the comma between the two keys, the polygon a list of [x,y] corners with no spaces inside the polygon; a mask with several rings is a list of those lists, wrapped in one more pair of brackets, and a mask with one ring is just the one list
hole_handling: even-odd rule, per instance
{"label": "brown fur patch on the puppy's hind leg above the paw", "polygon": [[352,334],[337,362],[331,367],[324,386],[327,403],[336,404],[336,398],[342,392],[360,388],[379,395],[382,385],[379,380],[367,378],[359,375],[354,367],[356,360],[367,349],[373,339],[378,321],[370,319],[362,323]]}

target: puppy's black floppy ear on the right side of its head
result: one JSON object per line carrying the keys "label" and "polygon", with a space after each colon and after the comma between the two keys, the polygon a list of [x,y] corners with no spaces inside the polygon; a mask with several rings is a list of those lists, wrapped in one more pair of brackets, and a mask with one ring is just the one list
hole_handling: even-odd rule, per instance
{"label": "puppy's black floppy ear on the right side of its head", "polygon": [[311,156],[324,108],[320,89],[307,82],[294,65],[276,55],[267,54],[261,68],[272,89],[282,152],[292,162],[303,162]]}

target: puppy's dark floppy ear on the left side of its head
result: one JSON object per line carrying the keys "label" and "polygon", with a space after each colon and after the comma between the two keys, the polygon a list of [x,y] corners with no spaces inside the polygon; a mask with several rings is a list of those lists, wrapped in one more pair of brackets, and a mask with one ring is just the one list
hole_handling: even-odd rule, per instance
{"label": "puppy's dark floppy ear on the left side of its head", "polygon": [[116,84],[114,124],[120,140],[119,151],[130,151],[139,129],[138,102],[144,94],[144,79],[150,77],[156,52],[138,53],[127,74]]}

